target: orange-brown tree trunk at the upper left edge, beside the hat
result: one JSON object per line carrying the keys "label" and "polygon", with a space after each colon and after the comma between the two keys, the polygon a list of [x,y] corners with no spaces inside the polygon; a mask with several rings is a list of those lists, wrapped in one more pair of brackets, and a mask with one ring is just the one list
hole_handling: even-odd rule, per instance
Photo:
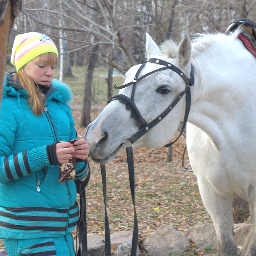
{"label": "orange-brown tree trunk at the upper left edge, beside the hat", "polygon": [[4,72],[6,65],[6,52],[8,39],[14,17],[18,15],[21,8],[21,0],[0,0],[0,106],[3,95]]}

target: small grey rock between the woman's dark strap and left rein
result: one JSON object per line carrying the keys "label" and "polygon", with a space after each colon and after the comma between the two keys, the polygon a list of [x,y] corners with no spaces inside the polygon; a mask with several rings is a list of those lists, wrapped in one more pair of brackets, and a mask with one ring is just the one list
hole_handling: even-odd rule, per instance
{"label": "small grey rock between the woman's dark strap and left rein", "polygon": [[87,235],[88,255],[102,256],[105,250],[105,240],[99,235]]}

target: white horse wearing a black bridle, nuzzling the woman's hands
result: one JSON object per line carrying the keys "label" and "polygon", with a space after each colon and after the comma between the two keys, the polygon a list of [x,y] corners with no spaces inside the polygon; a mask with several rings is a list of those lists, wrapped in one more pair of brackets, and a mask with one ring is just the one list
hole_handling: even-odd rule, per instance
{"label": "white horse wearing a black bridle, nuzzling the woman's hands", "polygon": [[[221,256],[237,255],[231,207],[236,196],[250,203],[254,223],[251,253],[256,255],[256,59],[238,39],[240,32],[238,28],[229,35],[200,35],[192,43],[185,35],[179,45],[168,41],[161,50],[146,35],[148,58],[165,60],[187,77],[191,66],[194,68],[187,124],[188,155],[215,226]],[[140,66],[129,69],[124,84],[138,79],[134,77]],[[147,62],[139,76],[160,67],[163,66],[157,62]],[[119,93],[131,98],[135,82]],[[181,74],[163,69],[137,81],[133,100],[149,123],[185,87]],[[112,161],[123,150],[122,143],[138,132],[136,119],[131,118],[126,105],[120,99],[111,101],[88,126],[85,139],[95,162]],[[160,148],[169,143],[183,121],[184,112],[185,97],[182,97],[133,147]]]}

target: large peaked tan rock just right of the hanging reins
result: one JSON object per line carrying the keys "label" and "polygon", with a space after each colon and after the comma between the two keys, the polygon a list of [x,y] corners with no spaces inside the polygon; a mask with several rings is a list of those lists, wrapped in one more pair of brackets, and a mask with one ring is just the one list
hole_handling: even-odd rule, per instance
{"label": "large peaked tan rock just right of the hanging reins", "polygon": [[190,243],[187,237],[166,224],[163,224],[142,243],[142,248],[147,251],[148,256],[181,254],[186,252],[189,247]]}

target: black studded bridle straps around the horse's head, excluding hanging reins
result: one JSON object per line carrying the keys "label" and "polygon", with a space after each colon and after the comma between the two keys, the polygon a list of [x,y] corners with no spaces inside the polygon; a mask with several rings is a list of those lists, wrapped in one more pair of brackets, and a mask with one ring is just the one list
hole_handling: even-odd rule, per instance
{"label": "black studded bridle straps around the horse's head, excluding hanging reins", "polygon": [[[147,62],[163,65],[164,67],[153,70],[153,71],[138,78],[140,71],[142,70],[142,68],[144,68],[144,66],[146,65]],[[133,85],[131,98],[125,96],[124,94],[116,94],[111,98],[111,100],[119,100],[122,103],[124,103],[126,105],[126,108],[132,111],[131,117],[136,118],[137,125],[139,126],[140,129],[138,132],[136,132],[134,135],[132,135],[132,137],[128,138],[131,141],[131,143],[133,144],[135,141],[140,139],[140,137],[142,137],[146,132],[148,132],[151,128],[153,128],[156,124],[158,124],[165,116],[167,116],[169,114],[169,112],[173,109],[173,107],[179,102],[179,100],[182,98],[182,96],[184,94],[186,94],[186,107],[185,107],[185,115],[184,115],[182,128],[180,130],[180,134],[179,134],[178,138],[175,139],[172,143],[165,145],[165,147],[169,147],[180,138],[180,135],[184,131],[187,120],[188,120],[188,114],[189,114],[190,104],[191,104],[190,86],[193,86],[194,82],[195,82],[194,69],[193,69],[193,66],[191,65],[190,78],[188,78],[179,68],[177,68],[176,66],[174,66],[173,64],[171,64],[165,60],[151,58],[151,59],[148,59],[147,62],[141,64],[141,66],[138,69],[138,71],[136,72],[136,75],[132,82],[123,84],[121,86],[115,86],[116,89],[122,89],[122,88],[128,87],[130,85]],[[136,105],[134,103],[134,94],[135,94],[135,90],[136,90],[136,85],[137,85],[137,82],[141,81],[143,78],[145,78],[157,71],[161,71],[161,70],[165,70],[165,69],[171,69],[172,71],[177,73],[180,77],[182,77],[182,79],[184,80],[184,82],[186,84],[186,88],[184,91],[180,92],[177,95],[177,97],[172,101],[172,103],[159,116],[157,116],[150,123],[147,123],[145,121],[145,119],[143,118],[143,116],[140,114],[139,109],[136,107]]]}

